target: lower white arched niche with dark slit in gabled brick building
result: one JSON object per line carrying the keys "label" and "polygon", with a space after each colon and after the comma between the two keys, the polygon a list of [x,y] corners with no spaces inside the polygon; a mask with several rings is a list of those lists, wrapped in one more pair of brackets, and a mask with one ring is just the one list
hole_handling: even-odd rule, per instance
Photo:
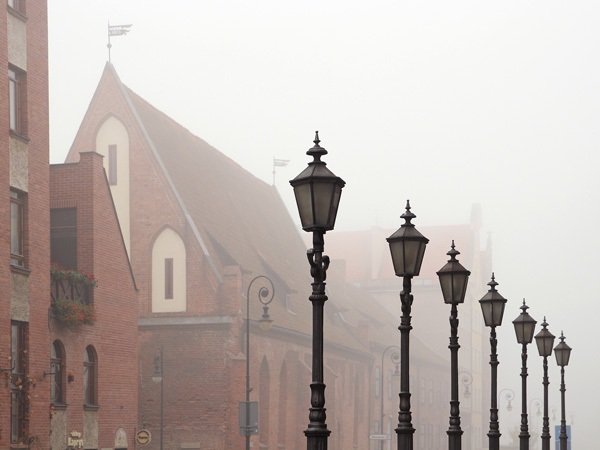
{"label": "lower white arched niche with dark slit in gabled brick building", "polygon": [[183,240],[165,228],[152,246],[152,312],[186,310],[186,251]]}

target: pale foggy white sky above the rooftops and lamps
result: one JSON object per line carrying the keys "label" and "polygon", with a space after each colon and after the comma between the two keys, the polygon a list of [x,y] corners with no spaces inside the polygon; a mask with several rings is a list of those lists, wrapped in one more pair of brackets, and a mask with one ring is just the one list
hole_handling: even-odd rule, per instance
{"label": "pale foggy white sky above the rooftops and lamps", "polygon": [[[53,162],[64,159],[102,73],[107,23],[131,23],[112,39],[121,80],[266,182],[273,157],[290,159],[276,184],[291,207],[287,181],[309,160],[315,130],[347,182],[338,229],[397,228],[407,198],[417,225],[467,222],[480,203],[510,300],[501,387],[520,388],[510,321],[525,297],[531,315],[547,315],[574,348],[567,415],[574,445],[593,448],[599,2],[48,3]],[[487,286],[470,288],[479,297]],[[531,397],[541,398],[535,345],[529,362]],[[550,368],[557,407],[554,359]]]}

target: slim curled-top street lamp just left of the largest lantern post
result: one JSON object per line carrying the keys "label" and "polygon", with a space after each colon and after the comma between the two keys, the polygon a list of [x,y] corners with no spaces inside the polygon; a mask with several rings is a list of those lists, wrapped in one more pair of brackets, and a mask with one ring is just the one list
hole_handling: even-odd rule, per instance
{"label": "slim curled-top street lamp just left of the largest lantern post", "polygon": [[[246,450],[250,450],[250,436],[258,432],[257,426],[250,423],[250,391],[252,391],[250,388],[250,291],[254,283],[259,281],[266,282],[269,285],[268,287],[261,286],[256,293],[258,301],[263,305],[263,315],[259,320],[259,327],[264,331],[268,331],[273,323],[273,320],[269,317],[269,303],[273,301],[275,288],[269,277],[257,275],[248,283],[248,291],[246,292],[246,402],[244,404],[245,420],[242,421],[244,423],[243,433],[246,436]],[[256,418],[258,418],[258,415],[256,415]]]}

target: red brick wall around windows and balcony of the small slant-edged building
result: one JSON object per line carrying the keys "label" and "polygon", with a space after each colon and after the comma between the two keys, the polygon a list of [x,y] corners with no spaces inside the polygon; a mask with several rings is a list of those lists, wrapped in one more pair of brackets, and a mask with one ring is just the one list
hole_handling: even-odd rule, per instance
{"label": "red brick wall around windows and balcony of the small slant-edged building", "polygon": [[[129,265],[102,156],[85,153],[77,164],[51,167],[50,207],[77,210],[77,268],[93,274],[95,322],[70,329],[50,320],[51,339],[66,353],[66,407],[52,410],[52,442],[57,434],[82,432],[87,448],[115,448],[124,431],[134,447],[137,426],[137,292]],[[98,408],[84,407],[84,353],[98,357]],[[97,433],[92,431],[97,430]],[[87,433],[86,431],[89,431]],[[57,447],[60,448],[60,447]]]}

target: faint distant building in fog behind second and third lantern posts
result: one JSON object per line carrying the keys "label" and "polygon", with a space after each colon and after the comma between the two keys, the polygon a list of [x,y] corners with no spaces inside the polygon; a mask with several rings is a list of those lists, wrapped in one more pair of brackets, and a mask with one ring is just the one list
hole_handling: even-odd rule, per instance
{"label": "faint distant building in fog behind second and third lantern posts", "polygon": [[[418,216],[419,205],[412,205],[413,212]],[[426,205],[420,205],[425,208]],[[400,215],[402,211],[399,211]],[[398,227],[403,223],[399,219]],[[460,411],[463,435],[463,448],[465,450],[478,450],[487,442],[489,421],[489,333],[484,327],[481,307],[478,300],[488,290],[486,283],[491,276],[492,250],[489,240],[482,243],[481,236],[481,209],[474,205],[471,221],[462,225],[427,226],[420,224],[418,217],[413,221],[419,231],[430,239],[425,251],[425,258],[421,273],[413,279],[414,303],[412,307],[411,332],[411,359],[416,362],[411,365],[411,389],[413,396],[413,414],[416,417],[414,424],[426,425],[416,431],[416,439],[425,439],[423,448],[432,447],[427,442],[427,435],[442,435],[446,442],[445,431],[448,428],[449,392],[443,396],[445,403],[442,416],[430,420],[428,412],[423,414],[422,403],[429,402],[432,396],[438,395],[440,388],[449,389],[449,369],[440,379],[439,373],[433,377],[423,377],[419,371],[422,364],[434,364],[438,358],[449,360],[448,338],[450,326],[448,317],[450,306],[444,304],[439,287],[436,271],[442,268],[448,260],[446,252],[450,249],[452,239],[455,240],[456,249],[460,251],[458,259],[471,271],[467,297],[465,302],[458,307],[459,318],[459,383],[460,383]],[[328,235],[328,251],[335,258],[340,258],[345,263],[346,281],[363,288],[377,301],[400,317],[401,280],[393,270],[386,238],[395,229],[373,228],[364,231],[335,232]],[[335,263],[334,261],[333,263]],[[333,264],[332,263],[332,264]],[[501,281],[501,278],[499,278]],[[398,319],[399,323],[399,319]],[[413,342],[415,342],[413,344]],[[422,345],[419,345],[422,343]],[[441,386],[440,386],[441,385]],[[437,431],[435,429],[437,428]],[[432,431],[433,429],[433,431]],[[421,444],[419,444],[421,445]],[[420,447],[417,447],[420,448]],[[445,447],[441,447],[445,448]]]}

